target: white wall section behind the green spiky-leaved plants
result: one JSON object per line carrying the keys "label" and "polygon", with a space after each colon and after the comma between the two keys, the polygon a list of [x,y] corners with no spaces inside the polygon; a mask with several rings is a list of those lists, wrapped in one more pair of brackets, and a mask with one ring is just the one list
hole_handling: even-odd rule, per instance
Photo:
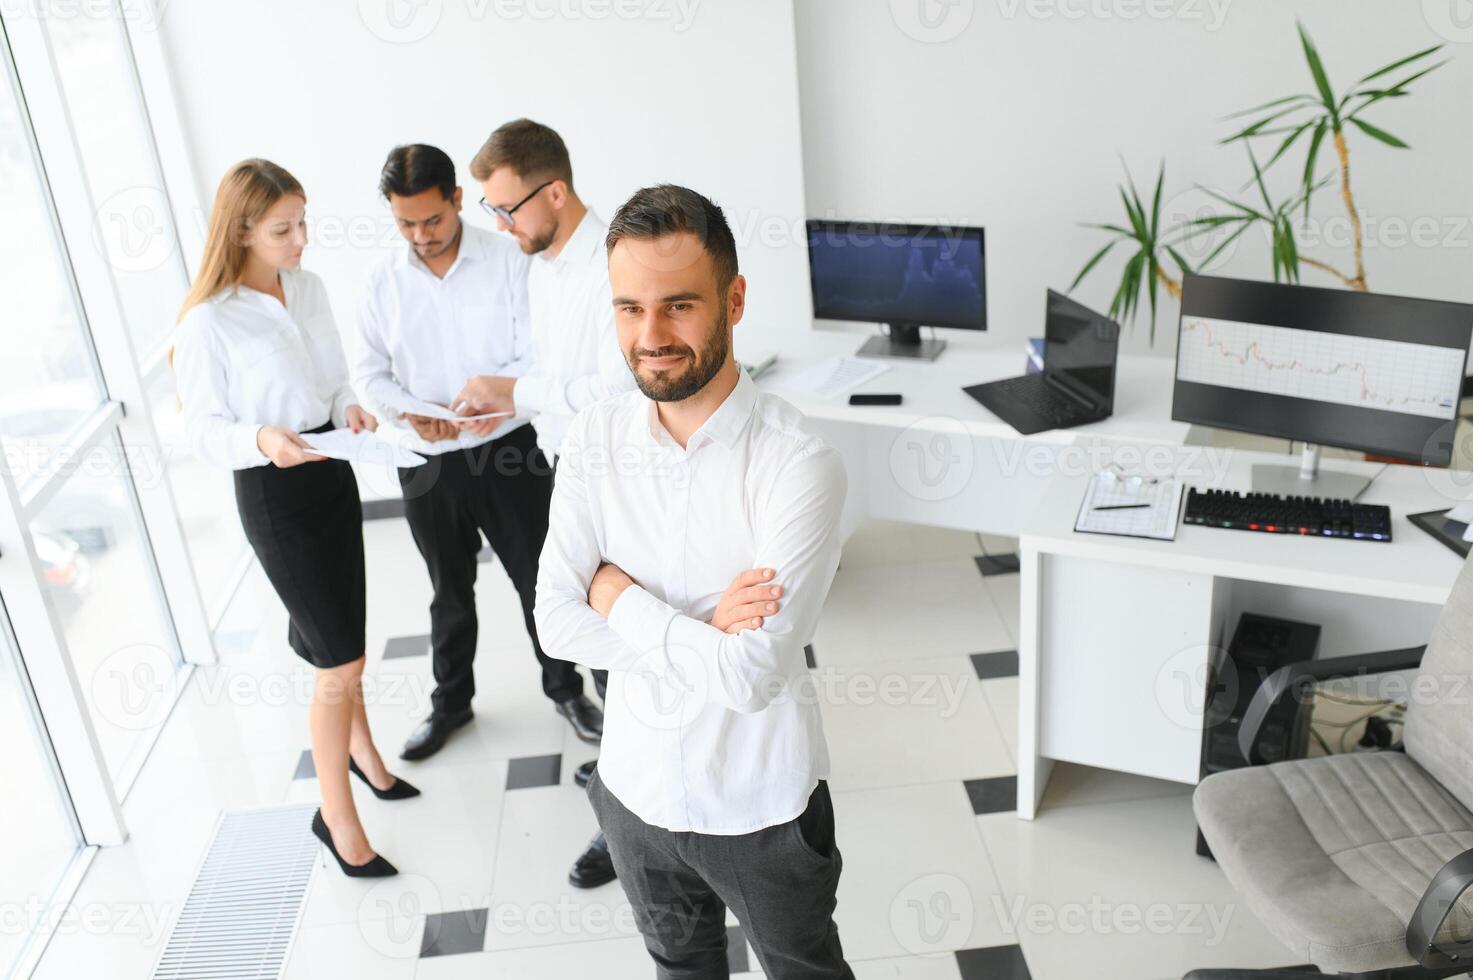
{"label": "white wall section behind the green spiky-leaved plants", "polygon": [[[1043,330],[1044,287],[1068,286],[1105,242],[1078,223],[1122,221],[1121,156],[1140,184],[1165,159],[1164,200],[1178,217],[1205,202],[1193,183],[1237,192],[1248,161],[1240,147],[1215,146],[1230,133],[1221,116],[1312,90],[1298,18],[1336,85],[1449,41],[1451,65],[1410,99],[1367,112],[1413,149],[1352,136],[1351,172],[1363,214],[1380,228],[1367,243],[1371,289],[1473,301],[1473,24],[1457,9],[1458,0],[797,0],[809,212],[984,225],[990,329],[1021,343]],[[1280,161],[1271,189],[1292,186],[1302,161],[1302,149]],[[1317,169],[1332,162],[1321,153]],[[1314,214],[1343,230],[1333,190]],[[1407,240],[1411,227],[1424,243]],[[1270,277],[1267,248],[1251,236],[1221,274]],[[1351,265],[1348,248],[1304,252]],[[1078,298],[1108,307],[1118,270],[1106,259]],[[1312,270],[1305,281],[1333,284]],[[1158,352],[1174,349],[1175,317],[1167,304]],[[1145,349],[1146,335],[1143,317],[1130,348]]]}

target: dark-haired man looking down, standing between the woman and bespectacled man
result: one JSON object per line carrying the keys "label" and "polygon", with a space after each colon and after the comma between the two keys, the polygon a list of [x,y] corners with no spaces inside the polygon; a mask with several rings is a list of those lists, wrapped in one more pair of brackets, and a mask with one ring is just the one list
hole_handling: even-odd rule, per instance
{"label": "dark-haired man looking down, standing between the woman and bespectacled man", "polygon": [[[542,691],[580,738],[597,740],[602,712],[583,696],[573,665],[538,641],[533,603],[538,557],[548,528],[552,466],[521,419],[452,421],[465,379],[517,377],[532,361],[527,259],[517,246],[460,220],[455,164],[426,144],[395,147],[379,190],[408,246],[370,273],[358,320],[354,383],[382,407],[382,430],[429,463],[399,470],[405,517],[435,587],[430,716],[409,735],[402,759],[426,759],[470,722],[479,622],[476,572],[485,535],[521,600],[542,671]],[[460,408],[458,414],[470,414]]]}

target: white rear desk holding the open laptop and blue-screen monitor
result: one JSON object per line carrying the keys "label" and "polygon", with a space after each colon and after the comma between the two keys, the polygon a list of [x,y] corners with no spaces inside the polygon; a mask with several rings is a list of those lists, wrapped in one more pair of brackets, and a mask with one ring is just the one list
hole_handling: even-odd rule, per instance
{"label": "white rear desk holding the open laptop and blue-screen monitor", "polygon": [[[848,469],[846,533],[865,517],[978,531],[1016,538],[1049,482],[1087,472],[1078,436],[1181,445],[1189,426],[1171,421],[1173,361],[1121,357],[1115,414],[1078,429],[1021,436],[962,388],[1021,374],[1021,342],[947,332],[935,361],[885,360],[890,368],[860,392],[899,392],[894,407],[857,407],[848,395],[820,399],[791,379],[834,355],[851,355],[863,336],[834,330],[784,339],[776,367],[760,380],[807,416]],[[744,354],[739,345],[738,355]]]}

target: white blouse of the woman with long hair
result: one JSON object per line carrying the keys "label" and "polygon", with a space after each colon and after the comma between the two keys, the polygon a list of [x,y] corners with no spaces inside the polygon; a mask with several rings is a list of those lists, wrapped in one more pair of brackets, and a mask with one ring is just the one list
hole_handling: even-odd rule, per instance
{"label": "white blouse of the woman with long hair", "polygon": [[348,358],[323,280],[283,270],[286,307],[246,286],[228,287],[190,309],[174,348],[184,433],[190,451],[233,470],[265,466],[262,426],[292,432],[331,420],[346,424],[354,404]]}

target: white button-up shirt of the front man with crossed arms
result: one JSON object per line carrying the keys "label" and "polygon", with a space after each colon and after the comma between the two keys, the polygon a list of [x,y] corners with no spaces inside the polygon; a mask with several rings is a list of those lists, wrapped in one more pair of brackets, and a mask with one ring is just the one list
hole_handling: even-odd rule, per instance
{"label": "white button-up shirt of the front man with crossed arms", "polygon": [[[682,449],[641,392],[580,413],[564,438],[538,575],[538,635],[608,673],[598,778],[647,824],[745,834],[795,818],[828,777],[812,640],[840,557],[846,475],[803,416],[736,388]],[[635,585],[605,620],[600,563]],[[762,629],[707,620],[742,570],[776,569]]]}

